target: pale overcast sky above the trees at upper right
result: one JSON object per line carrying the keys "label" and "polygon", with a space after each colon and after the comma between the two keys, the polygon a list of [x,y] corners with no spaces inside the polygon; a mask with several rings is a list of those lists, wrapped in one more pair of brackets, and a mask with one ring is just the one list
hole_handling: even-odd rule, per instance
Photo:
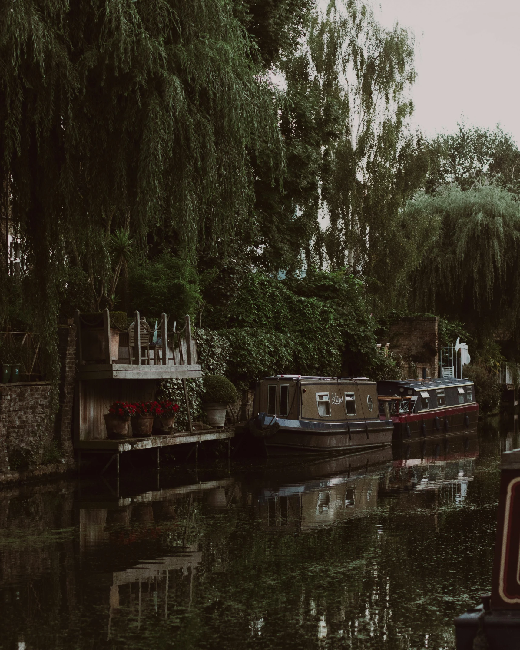
{"label": "pale overcast sky above the trees at upper right", "polygon": [[462,118],[500,123],[520,145],[520,3],[512,0],[374,0],[386,27],[415,34],[412,125],[428,135]]}

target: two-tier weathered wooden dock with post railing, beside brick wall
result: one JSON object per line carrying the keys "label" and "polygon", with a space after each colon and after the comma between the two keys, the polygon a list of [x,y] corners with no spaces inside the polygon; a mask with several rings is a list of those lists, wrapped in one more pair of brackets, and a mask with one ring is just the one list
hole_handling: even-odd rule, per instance
{"label": "two-tier weathered wooden dock with post railing, beside brick wall", "polygon": [[[133,323],[122,331],[110,326],[110,312],[83,318],[75,312],[77,326],[77,370],[74,403],[73,445],[77,450],[79,465],[82,454],[108,454],[110,456],[102,473],[112,461],[119,475],[120,455],[144,449],[193,445],[188,457],[195,452],[198,460],[200,443],[227,439],[229,458],[230,441],[235,437],[235,426],[195,430],[190,414],[186,381],[202,376],[198,362],[196,341],[192,338],[190,317],[185,317],[182,330],[168,328],[166,314],[161,315],[161,328],[156,344],[152,340],[149,324],[135,312]],[[157,334],[157,332],[156,332]],[[145,402],[155,399],[159,382],[164,379],[181,379],[188,415],[188,431],[172,434],[149,435],[109,439],[103,416],[112,402]]]}

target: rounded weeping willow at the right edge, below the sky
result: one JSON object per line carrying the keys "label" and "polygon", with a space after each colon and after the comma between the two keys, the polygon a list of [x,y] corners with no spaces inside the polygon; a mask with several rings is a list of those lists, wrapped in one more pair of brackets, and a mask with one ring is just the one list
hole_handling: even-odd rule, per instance
{"label": "rounded weeping willow at the right edge, below the sky", "polygon": [[417,307],[484,330],[520,324],[520,203],[495,185],[453,185],[408,201],[411,222],[429,224],[433,243],[415,272]]}

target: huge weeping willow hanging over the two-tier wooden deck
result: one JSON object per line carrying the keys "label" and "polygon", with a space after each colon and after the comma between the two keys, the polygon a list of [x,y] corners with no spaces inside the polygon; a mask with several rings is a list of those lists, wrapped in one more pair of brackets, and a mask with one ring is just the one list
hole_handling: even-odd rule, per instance
{"label": "huge weeping willow hanging over the two-tier wooden deck", "polygon": [[118,229],[143,246],[166,224],[188,256],[240,231],[249,152],[281,160],[254,50],[222,0],[0,3],[0,209],[54,374],[66,266],[91,259],[110,287]]}

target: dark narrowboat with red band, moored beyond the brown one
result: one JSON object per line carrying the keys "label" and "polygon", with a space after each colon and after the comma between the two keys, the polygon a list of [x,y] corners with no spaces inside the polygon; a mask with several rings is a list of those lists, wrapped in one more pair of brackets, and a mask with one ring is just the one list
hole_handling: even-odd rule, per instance
{"label": "dark narrowboat with red band, moored beyond the brown one", "polygon": [[377,390],[379,411],[394,424],[394,442],[476,428],[478,404],[469,379],[378,382]]}

